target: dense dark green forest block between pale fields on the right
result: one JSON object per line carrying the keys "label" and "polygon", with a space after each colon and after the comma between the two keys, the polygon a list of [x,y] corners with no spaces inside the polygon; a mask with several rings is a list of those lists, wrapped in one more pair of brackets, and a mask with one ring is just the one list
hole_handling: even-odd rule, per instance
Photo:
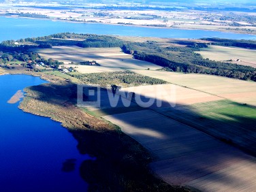
{"label": "dense dark green forest block between pale fields on the right", "polygon": [[133,54],[135,59],[149,61],[164,67],[167,71],[185,73],[212,74],[242,80],[256,80],[256,69],[244,65],[223,63],[204,59],[195,53],[207,44],[195,42],[176,42],[186,46],[168,46],[163,48],[155,42],[129,43],[123,46],[123,52]]}

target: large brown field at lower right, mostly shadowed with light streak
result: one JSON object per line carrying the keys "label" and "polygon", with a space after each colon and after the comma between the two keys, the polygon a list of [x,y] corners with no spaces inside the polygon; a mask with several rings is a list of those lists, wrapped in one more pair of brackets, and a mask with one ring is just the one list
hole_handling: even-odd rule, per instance
{"label": "large brown field at lower right, mostly shadowed with light streak", "polygon": [[172,185],[201,191],[253,191],[256,159],[152,110],[103,116],[156,157],[153,171]]}

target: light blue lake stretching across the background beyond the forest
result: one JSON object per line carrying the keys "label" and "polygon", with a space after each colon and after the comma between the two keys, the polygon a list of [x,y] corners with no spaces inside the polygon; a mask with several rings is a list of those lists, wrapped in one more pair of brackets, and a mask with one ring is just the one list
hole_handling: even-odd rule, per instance
{"label": "light blue lake stretching across the background beyond the forest", "polygon": [[5,18],[0,16],[0,42],[8,39],[39,37],[62,32],[191,39],[202,37],[256,39],[256,35],[224,33],[219,31],[146,28],[126,25],[104,25],[100,23],[74,23],[35,18]]}

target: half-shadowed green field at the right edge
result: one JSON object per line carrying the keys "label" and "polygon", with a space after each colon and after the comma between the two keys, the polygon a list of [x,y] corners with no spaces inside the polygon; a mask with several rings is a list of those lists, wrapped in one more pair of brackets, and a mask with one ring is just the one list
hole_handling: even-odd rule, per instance
{"label": "half-shadowed green field at the right edge", "polygon": [[256,151],[256,108],[223,99],[156,111],[225,142]]}

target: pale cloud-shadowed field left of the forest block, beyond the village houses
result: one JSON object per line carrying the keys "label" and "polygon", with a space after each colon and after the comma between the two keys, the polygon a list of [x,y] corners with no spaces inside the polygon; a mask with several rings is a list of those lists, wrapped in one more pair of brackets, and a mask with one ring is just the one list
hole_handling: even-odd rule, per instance
{"label": "pale cloud-shadowed field left of the forest block, beyond the village houses", "polygon": [[[97,61],[101,66],[82,66],[78,71],[93,73],[101,71],[121,71],[121,69],[159,69],[158,65],[146,61],[133,59],[125,54],[121,48],[80,48],[78,46],[55,46],[48,49],[37,49],[39,55],[45,59],[57,59],[65,64],[81,61]],[[101,69],[102,67],[102,69]],[[105,68],[103,68],[105,67]]]}

